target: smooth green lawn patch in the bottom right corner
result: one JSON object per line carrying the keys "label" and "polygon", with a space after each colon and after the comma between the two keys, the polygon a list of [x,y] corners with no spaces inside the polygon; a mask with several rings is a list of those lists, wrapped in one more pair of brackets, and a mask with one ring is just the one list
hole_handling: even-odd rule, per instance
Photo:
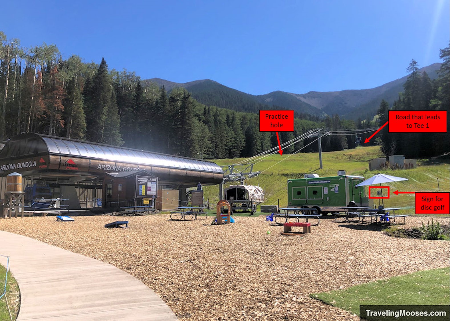
{"label": "smooth green lawn patch in the bottom right corner", "polygon": [[448,267],[419,271],[310,296],[356,315],[360,305],[449,305],[449,272]]}

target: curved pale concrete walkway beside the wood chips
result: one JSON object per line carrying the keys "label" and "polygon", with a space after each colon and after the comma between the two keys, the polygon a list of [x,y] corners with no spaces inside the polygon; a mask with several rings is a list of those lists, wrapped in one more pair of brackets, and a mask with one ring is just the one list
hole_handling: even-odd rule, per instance
{"label": "curved pale concrete walkway beside the wood chips", "polygon": [[157,294],[110,264],[5,231],[0,254],[20,288],[18,320],[176,320]]}

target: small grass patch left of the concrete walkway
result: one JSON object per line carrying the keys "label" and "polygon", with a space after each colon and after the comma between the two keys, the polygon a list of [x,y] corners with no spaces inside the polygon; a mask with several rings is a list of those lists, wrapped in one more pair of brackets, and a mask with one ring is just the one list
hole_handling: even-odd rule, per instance
{"label": "small grass patch left of the concrete walkway", "polygon": [[[0,295],[4,292],[6,268],[0,265]],[[8,299],[9,309],[13,320],[16,320],[19,312],[19,286],[11,272],[8,272],[8,280],[6,282],[6,298]],[[0,299],[0,320],[11,320],[9,317],[8,306],[6,304],[5,296]]]}

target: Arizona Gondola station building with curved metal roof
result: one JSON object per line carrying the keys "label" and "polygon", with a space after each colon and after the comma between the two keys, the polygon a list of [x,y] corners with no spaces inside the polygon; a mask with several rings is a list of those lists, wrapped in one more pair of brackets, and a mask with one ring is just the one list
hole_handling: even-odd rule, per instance
{"label": "Arizona Gondola station building with curved metal roof", "polygon": [[11,173],[23,176],[25,199],[68,199],[71,209],[135,206],[163,190],[176,207],[187,188],[219,184],[224,176],[205,160],[35,133],[9,139],[0,151],[2,198]]}

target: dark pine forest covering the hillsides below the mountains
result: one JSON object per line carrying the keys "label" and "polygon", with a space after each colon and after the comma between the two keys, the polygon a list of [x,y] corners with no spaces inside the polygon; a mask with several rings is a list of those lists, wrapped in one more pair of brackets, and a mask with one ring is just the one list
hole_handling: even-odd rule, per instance
{"label": "dark pine forest covering the hillsides below the mountains", "polygon": [[[448,47],[441,50],[440,58],[440,77],[435,80],[419,73],[413,59],[404,92],[392,106],[383,101],[374,118],[355,122],[338,115],[320,118],[296,113],[294,131],[280,132],[280,140],[292,140],[315,128],[342,130],[343,135],[324,136],[322,150],[351,149],[371,135],[351,131],[383,125],[390,109],[448,111]],[[99,64],[86,63],[77,55],[63,59],[56,45],[24,48],[19,39],[1,31],[0,107],[0,140],[36,132],[193,158],[250,157],[277,145],[275,132],[259,131],[258,113],[240,112],[239,106],[231,110],[203,105],[183,88],[167,92],[155,83],[142,86],[135,72],[110,70],[104,58]],[[433,136],[430,143],[427,133],[394,134],[386,129],[369,144],[381,145],[387,155],[411,158],[447,153],[448,122],[447,133]],[[289,146],[284,153],[314,139]],[[302,151],[317,151],[317,144]]]}

